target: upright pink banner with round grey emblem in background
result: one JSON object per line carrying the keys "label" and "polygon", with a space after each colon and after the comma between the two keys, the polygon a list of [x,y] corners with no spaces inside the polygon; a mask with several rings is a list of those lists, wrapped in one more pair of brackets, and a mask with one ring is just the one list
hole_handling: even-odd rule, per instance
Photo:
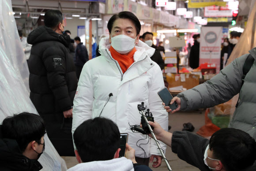
{"label": "upright pink banner with round grey emblem in background", "polygon": [[215,63],[220,69],[222,27],[202,27],[200,34],[200,64]]}

